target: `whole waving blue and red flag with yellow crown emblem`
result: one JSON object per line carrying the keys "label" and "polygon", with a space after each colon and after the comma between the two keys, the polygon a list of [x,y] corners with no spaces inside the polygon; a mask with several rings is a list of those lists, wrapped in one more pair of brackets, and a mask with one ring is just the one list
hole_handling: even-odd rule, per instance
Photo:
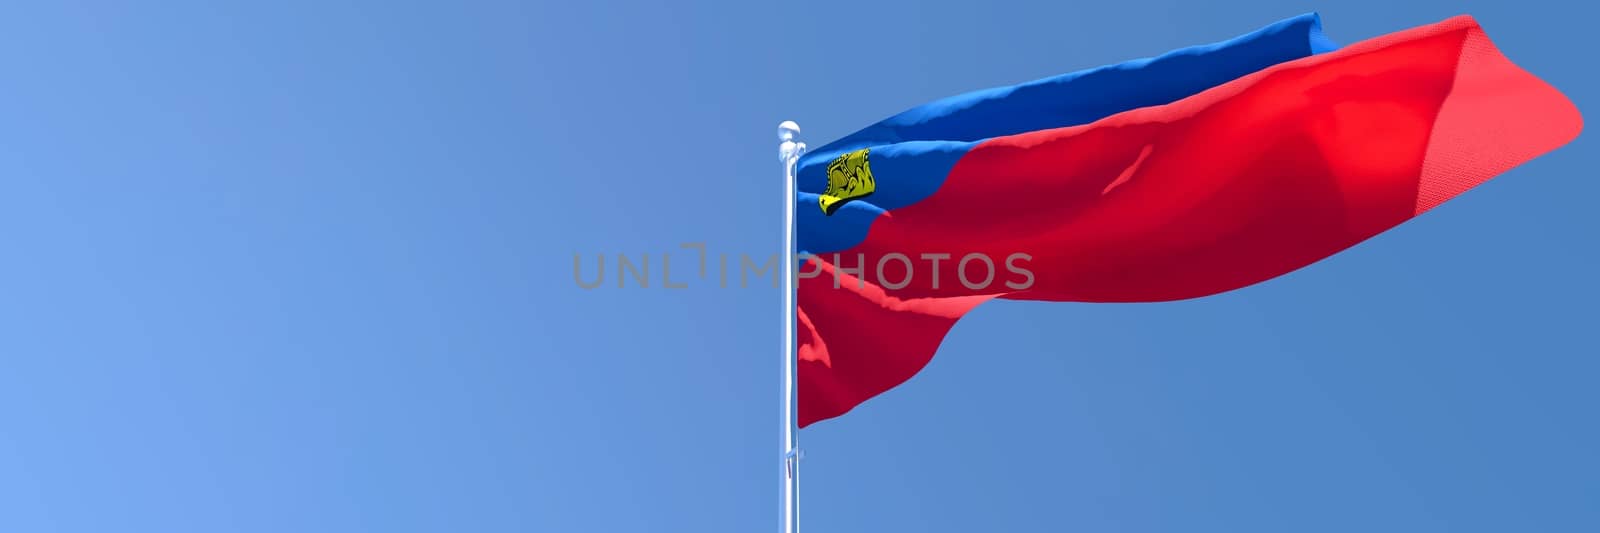
{"label": "whole waving blue and red flag with yellow crown emblem", "polygon": [[1467,16],[1336,50],[1310,14],[915,107],[800,162],[800,426],[912,378],[984,301],[1258,283],[1581,128]]}

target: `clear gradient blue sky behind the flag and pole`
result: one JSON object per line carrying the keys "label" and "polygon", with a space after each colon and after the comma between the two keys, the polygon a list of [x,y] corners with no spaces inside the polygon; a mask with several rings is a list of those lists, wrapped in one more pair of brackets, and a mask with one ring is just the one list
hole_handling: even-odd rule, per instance
{"label": "clear gradient blue sky behind the flag and pole", "polygon": [[[784,118],[1302,11],[1600,106],[1571,2],[8,5],[0,531],[776,530],[778,291],[574,253],[776,250]],[[802,434],[805,530],[1597,531],[1592,138],[1248,290],[987,304]]]}

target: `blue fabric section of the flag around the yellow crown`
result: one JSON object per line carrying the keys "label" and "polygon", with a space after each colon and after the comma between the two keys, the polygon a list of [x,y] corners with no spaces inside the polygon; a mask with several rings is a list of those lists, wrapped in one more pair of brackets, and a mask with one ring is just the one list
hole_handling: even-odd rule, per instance
{"label": "blue fabric section of the flag around the yellow crown", "polygon": [[[1336,48],[1322,34],[1322,19],[1307,13],[1219,43],[912,107],[800,160],[798,250],[830,253],[854,246],[878,214],[938,190],[950,166],[979,141],[1168,104],[1274,64]],[[845,203],[832,216],[822,214],[818,194],[827,187],[827,163],[862,147],[872,150],[875,192]]]}

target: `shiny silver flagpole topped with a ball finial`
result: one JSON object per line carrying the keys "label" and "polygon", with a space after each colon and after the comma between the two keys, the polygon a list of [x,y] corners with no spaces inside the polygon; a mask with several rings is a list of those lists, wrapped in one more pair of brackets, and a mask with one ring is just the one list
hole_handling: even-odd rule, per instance
{"label": "shiny silver flagpole topped with a ball finial", "polygon": [[800,437],[795,427],[795,173],[805,142],[800,142],[800,125],[784,120],[778,125],[778,158],[784,163],[784,251],[778,274],[784,277],[784,443],[782,443],[782,517],[784,533],[800,531]]}

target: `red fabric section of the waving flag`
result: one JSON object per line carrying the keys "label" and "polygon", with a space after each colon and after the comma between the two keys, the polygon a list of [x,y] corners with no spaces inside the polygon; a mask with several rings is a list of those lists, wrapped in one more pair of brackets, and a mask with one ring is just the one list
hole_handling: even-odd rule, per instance
{"label": "red fabric section of the waving flag", "polygon": [[[800,426],[910,379],[990,298],[1171,301],[1304,267],[1571,141],[1558,91],[1510,64],[1470,18],[1285,62],[1187,99],[1096,123],[995,138],[931,197],[800,280]],[[834,264],[915,264],[898,290]],[[949,253],[934,277],[923,253]],[[955,262],[982,253],[995,280]],[[1005,269],[1019,262],[1027,290]],[[898,261],[885,280],[904,279]],[[968,264],[968,280],[984,279]],[[938,288],[934,288],[938,283]]]}

